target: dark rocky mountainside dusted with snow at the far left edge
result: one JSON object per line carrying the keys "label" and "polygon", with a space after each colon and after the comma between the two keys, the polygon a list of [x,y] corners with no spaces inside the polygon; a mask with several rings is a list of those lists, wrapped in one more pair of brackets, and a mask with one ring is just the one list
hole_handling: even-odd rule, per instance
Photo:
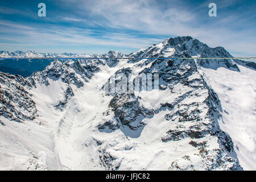
{"label": "dark rocky mountainside dusted with snow at the far left edge", "polygon": [[35,119],[35,102],[26,90],[30,88],[23,77],[0,72],[0,115],[16,122]]}

